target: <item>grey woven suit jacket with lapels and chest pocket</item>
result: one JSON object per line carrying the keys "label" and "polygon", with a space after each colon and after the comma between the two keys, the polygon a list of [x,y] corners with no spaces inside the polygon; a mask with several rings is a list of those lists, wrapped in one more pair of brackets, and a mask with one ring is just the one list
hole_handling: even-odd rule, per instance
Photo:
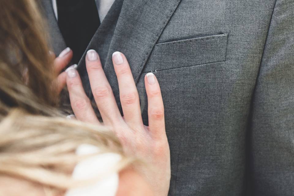
{"label": "grey woven suit jacket with lapels and chest pocket", "polygon": [[[66,46],[43,0],[58,54]],[[171,148],[170,195],[294,194],[294,0],[116,0],[88,49],[130,62],[147,121],[153,71]],[[85,55],[78,69],[91,97]]]}

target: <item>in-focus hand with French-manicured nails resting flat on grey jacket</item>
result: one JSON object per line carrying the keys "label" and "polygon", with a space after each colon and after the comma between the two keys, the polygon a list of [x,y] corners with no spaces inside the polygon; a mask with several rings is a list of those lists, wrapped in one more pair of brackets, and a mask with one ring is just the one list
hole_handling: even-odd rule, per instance
{"label": "in-focus hand with French-manicured nails resting flat on grey jacket", "polygon": [[[159,84],[154,74],[146,74],[149,126],[144,126],[137,88],[126,57],[120,52],[115,52],[113,64],[119,83],[123,117],[119,112],[98,54],[94,50],[87,53],[86,68],[103,122],[113,127],[127,154],[136,156],[151,166],[136,169],[146,177],[155,195],[165,196],[168,194],[171,170],[170,152],[165,133],[164,106]],[[70,102],[76,118],[85,122],[99,123],[77,71],[70,67],[66,73]]]}

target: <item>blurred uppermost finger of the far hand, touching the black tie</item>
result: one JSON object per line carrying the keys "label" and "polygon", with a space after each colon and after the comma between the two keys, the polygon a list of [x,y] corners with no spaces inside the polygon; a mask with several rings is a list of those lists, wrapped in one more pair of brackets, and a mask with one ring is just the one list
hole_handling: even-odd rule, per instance
{"label": "blurred uppermost finger of the far hand, touching the black tie", "polygon": [[60,55],[54,60],[54,70],[56,74],[59,74],[73,58],[73,51],[67,47]]}

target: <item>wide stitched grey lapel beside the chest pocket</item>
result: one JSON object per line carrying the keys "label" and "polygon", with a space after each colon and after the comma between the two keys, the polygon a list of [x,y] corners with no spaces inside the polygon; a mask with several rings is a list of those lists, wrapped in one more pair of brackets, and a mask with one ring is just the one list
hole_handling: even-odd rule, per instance
{"label": "wide stitched grey lapel beside the chest pocket", "polygon": [[124,0],[104,65],[104,72],[118,102],[119,90],[112,53],[120,51],[126,55],[137,82],[154,45],[180,1]]}

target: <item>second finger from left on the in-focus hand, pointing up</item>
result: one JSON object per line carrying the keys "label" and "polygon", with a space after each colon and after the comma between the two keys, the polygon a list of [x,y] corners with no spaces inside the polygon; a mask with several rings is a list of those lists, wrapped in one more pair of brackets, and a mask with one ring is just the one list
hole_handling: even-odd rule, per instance
{"label": "second finger from left on the in-focus hand, pointing up", "polygon": [[86,68],[92,93],[104,124],[114,125],[123,120],[96,51],[87,52]]}

